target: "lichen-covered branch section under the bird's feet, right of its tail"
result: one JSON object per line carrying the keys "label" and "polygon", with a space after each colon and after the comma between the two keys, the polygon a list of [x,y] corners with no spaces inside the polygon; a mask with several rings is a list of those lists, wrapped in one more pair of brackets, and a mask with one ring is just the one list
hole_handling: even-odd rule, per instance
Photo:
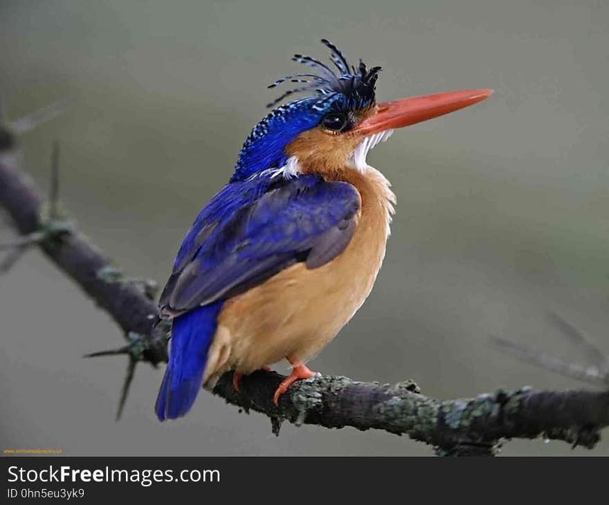
{"label": "lichen-covered branch section under the bird's feet, right of its tail", "polygon": [[256,371],[242,379],[236,392],[232,374],[225,374],[214,393],[233,405],[296,425],[376,428],[408,434],[444,452],[468,448],[490,455],[501,439],[539,436],[592,448],[599,441],[597,429],[609,424],[609,392],[533,392],[525,387],[438,400],[420,394],[410,380],[379,385],[316,377],[295,383],[276,407],[273,392],[283,378]]}

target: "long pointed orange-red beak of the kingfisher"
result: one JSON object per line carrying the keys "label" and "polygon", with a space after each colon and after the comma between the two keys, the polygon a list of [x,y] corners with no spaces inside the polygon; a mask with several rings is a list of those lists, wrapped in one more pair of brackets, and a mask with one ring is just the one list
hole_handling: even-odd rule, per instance
{"label": "long pointed orange-red beak of the kingfisher", "polygon": [[379,131],[415,125],[482,102],[492,94],[492,89],[466,89],[381,102],[376,104],[376,112],[363,120],[354,132],[369,136]]}

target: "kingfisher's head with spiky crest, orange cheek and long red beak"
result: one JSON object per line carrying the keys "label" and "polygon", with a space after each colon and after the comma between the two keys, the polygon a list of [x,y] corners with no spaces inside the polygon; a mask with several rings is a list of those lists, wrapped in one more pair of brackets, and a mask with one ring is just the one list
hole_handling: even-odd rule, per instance
{"label": "kingfisher's head with spiky crest, orange cheek and long red beak", "polygon": [[380,66],[349,65],[343,53],[322,39],[338,73],[318,59],[294,55],[293,61],[308,66],[276,80],[298,83],[268,107],[293,93],[312,92],[273,109],[251,131],[239,153],[231,181],[243,181],[262,173],[284,177],[305,173],[332,174],[344,169],[364,171],[366,155],[393,130],[480,102],[489,89],[451,91],[393,102],[376,102]]}

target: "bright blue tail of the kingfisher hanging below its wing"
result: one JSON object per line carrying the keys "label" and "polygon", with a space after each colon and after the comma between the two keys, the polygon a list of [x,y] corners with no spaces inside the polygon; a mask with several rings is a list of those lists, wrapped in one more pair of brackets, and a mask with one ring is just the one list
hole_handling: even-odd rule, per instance
{"label": "bright blue tail of the kingfisher hanging below its wing", "polygon": [[183,416],[197,398],[223,303],[214,302],[174,319],[169,363],[154,407],[159,421]]}

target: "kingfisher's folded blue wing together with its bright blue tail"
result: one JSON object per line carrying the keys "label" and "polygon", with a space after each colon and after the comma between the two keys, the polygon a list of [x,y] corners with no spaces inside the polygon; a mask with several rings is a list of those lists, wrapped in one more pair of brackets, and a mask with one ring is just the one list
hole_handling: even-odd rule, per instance
{"label": "kingfisher's folded blue wing together with its bright blue tail", "polygon": [[336,257],[359,207],[352,185],[312,175],[233,182],[214,196],[186,234],[159,302],[161,316],[175,316],[159,420],[192,407],[224,300],[297,261],[316,268]]}

